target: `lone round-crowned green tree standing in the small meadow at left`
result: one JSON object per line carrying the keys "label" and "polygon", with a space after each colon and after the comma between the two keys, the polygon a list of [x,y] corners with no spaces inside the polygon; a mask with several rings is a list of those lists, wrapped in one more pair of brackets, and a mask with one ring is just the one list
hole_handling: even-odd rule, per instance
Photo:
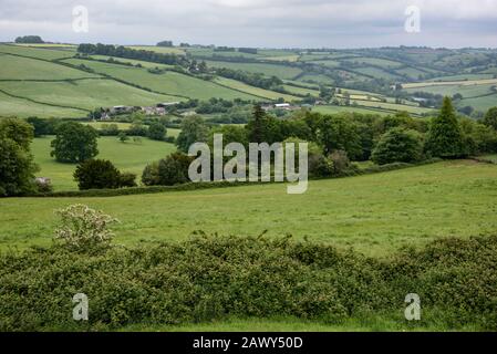
{"label": "lone round-crowned green tree standing in the small meadow at left", "polygon": [[55,134],[50,155],[60,163],[82,163],[99,154],[99,133],[91,126],[65,122],[58,126]]}

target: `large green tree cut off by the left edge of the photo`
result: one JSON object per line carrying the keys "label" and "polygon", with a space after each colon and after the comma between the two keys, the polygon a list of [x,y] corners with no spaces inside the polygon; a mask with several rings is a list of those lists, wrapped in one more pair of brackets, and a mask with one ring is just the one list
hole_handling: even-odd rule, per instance
{"label": "large green tree cut off by the left edge of the photo", "polygon": [[33,128],[17,118],[0,121],[0,196],[34,191],[38,166],[30,153]]}

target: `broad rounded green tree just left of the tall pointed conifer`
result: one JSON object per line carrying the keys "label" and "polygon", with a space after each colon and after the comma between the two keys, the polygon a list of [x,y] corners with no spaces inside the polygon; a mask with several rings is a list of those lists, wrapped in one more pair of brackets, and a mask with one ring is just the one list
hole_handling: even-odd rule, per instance
{"label": "broad rounded green tree just left of the tall pointed conifer", "polygon": [[423,144],[417,132],[402,127],[392,128],[381,137],[372,154],[379,165],[414,163],[422,159]]}

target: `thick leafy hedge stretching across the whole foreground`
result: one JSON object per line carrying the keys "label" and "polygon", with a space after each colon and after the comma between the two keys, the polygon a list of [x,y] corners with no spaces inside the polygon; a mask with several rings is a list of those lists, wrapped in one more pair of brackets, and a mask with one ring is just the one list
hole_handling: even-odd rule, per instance
{"label": "thick leafy hedge stretching across the whole foreground", "polygon": [[[180,243],[73,253],[52,246],[0,256],[0,331],[115,330],[225,316],[327,323],[386,314],[415,326],[497,330],[497,237],[442,239],[385,260],[263,237],[197,236]],[[89,298],[89,321],[72,298]]]}

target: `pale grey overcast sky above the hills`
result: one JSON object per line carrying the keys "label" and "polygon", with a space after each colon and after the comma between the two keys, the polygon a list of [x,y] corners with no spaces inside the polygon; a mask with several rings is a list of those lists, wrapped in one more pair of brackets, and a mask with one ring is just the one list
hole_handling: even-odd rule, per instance
{"label": "pale grey overcast sky above the hills", "polygon": [[[73,31],[73,8],[89,32]],[[421,32],[404,29],[421,10]],[[39,34],[54,42],[234,46],[497,48],[497,0],[0,0],[0,41]]]}

